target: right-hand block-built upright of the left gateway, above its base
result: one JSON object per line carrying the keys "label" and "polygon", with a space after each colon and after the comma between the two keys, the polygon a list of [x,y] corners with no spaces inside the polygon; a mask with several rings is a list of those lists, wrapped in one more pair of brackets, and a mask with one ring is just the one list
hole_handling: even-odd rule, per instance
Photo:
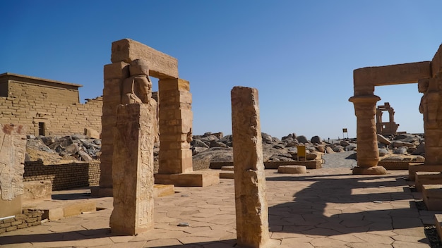
{"label": "right-hand block-built upright of the left gateway, above its base", "polygon": [[189,173],[192,168],[191,109],[189,81],[161,79],[158,82],[160,154],[158,174]]}

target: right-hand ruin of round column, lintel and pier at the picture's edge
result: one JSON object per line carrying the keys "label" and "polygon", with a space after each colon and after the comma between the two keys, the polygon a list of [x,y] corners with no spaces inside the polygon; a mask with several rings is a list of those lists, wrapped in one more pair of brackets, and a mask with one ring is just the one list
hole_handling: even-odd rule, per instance
{"label": "right-hand ruin of round column, lintel and pier at the picture's edge", "polygon": [[[424,115],[425,165],[411,166],[411,171],[442,171],[442,45],[431,61],[392,66],[367,67],[354,70],[354,104],[357,116],[357,167],[354,174],[384,174],[378,165],[376,137],[375,87],[419,82],[424,93],[419,110]],[[417,106],[416,106],[417,107]]]}

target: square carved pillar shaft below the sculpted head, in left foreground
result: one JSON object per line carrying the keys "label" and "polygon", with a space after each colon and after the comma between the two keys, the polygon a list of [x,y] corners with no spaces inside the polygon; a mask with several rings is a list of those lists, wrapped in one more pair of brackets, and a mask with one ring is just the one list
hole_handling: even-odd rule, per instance
{"label": "square carved pillar shaft below the sculpted head, in left foreground", "polygon": [[112,233],[136,235],[153,228],[153,143],[155,104],[126,104],[117,109],[112,166]]}

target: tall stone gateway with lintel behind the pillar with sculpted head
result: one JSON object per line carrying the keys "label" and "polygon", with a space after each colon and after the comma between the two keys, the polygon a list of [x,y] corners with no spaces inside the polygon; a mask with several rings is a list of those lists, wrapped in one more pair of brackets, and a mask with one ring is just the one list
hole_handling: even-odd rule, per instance
{"label": "tall stone gateway with lintel behind the pillar with sculpted head", "polygon": [[112,195],[112,154],[115,151],[113,130],[117,125],[117,108],[120,104],[128,103],[131,98],[126,93],[132,89],[126,89],[127,84],[124,82],[134,76],[129,70],[129,64],[138,59],[145,61],[149,76],[159,79],[157,120],[160,154],[155,183],[176,186],[218,183],[217,175],[193,172],[192,152],[189,149],[193,120],[192,97],[189,82],[179,78],[177,59],[131,39],[121,39],[112,43],[112,63],[104,66],[100,187],[94,189],[92,194]]}

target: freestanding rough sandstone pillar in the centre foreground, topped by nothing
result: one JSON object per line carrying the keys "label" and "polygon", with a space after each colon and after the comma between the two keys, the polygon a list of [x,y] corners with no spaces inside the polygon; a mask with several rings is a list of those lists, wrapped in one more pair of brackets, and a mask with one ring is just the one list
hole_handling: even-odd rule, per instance
{"label": "freestanding rough sandstone pillar in the centre foreground, topped by nothing", "polygon": [[232,134],[237,241],[239,246],[264,247],[268,205],[257,89],[232,89]]}

